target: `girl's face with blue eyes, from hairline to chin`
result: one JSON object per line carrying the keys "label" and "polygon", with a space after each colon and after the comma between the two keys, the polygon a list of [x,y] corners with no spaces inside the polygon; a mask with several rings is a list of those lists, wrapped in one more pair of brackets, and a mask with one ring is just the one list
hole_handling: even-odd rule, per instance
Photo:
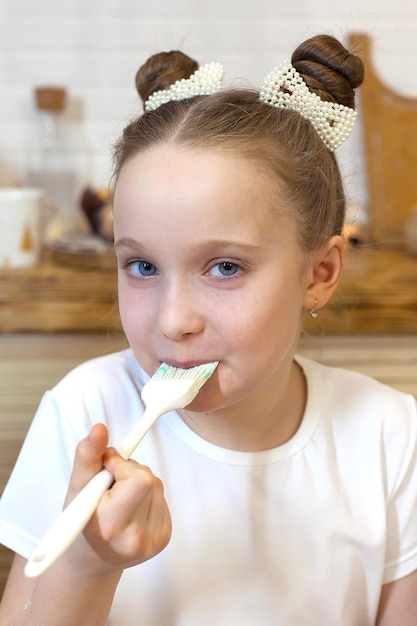
{"label": "girl's face with blue eyes, from hairline to chin", "polygon": [[124,330],[150,375],[163,361],[219,361],[191,410],[243,409],[288,385],[305,259],[277,197],[252,163],[215,151],[154,146],[121,170],[114,234]]}

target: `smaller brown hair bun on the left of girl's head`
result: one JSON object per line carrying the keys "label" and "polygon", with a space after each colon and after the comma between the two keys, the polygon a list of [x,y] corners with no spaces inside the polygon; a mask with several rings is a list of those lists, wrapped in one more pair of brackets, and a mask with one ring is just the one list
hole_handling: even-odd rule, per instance
{"label": "smaller brown hair bun on the left of girl's head", "polygon": [[146,102],[155,91],[168,89],[177,80],[189,78],[198,70],[198,63],[180,50],[158,52],[138,69],[135,77],[136,90]]}

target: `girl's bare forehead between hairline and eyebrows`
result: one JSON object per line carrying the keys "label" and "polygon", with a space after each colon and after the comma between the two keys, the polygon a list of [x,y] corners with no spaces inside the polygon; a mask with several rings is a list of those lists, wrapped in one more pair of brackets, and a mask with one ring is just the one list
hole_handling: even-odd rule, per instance
{"label": "girl's bare forehead between hairline and eyebrows", "polygon": [[114,230],[116,240],[162,237],[169,247],[190,239],[266,245],[296,238],[275,183],[250,160],[170,145],[140,152],[123,166]]}

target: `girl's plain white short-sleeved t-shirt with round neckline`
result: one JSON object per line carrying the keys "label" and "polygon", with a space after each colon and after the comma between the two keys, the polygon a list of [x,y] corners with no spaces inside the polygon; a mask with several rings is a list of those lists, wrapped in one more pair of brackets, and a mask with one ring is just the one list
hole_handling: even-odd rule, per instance
{"label": "girl's plain white short-sleeved t-shirt with round neckline", "polygon": [[[173,535],[124,572],[110,626],[366,626],[381,585],[417,569],[414,398],[297,360],[307,407],[278,448],[220,448],[176,412],[146,435],[133,458],[163,480]],[[62,508],[76,444],[97,422],[120,443],[147,380],[126,350],[45,394],[0,502],[2,543],[30,556]]]}

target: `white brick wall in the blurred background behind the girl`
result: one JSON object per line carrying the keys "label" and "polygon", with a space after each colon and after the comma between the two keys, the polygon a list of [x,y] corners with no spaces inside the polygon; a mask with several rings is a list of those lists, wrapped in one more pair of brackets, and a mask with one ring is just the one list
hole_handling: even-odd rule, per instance
{"label": "white brick wall in the blurred background behind the girl", "polygon": [[[101,187],[112,142],[140,110],[134,75],[150,54],[181,48],[220,61],[226,82],[259,86],[301,40],[352,30],[372,34],[385,80],[417,94],[415,0],[0,0],[0,184],[22,180],[35,85],[68,88]],[[366,203],[360,124],[339,157],[349,196]]]}

